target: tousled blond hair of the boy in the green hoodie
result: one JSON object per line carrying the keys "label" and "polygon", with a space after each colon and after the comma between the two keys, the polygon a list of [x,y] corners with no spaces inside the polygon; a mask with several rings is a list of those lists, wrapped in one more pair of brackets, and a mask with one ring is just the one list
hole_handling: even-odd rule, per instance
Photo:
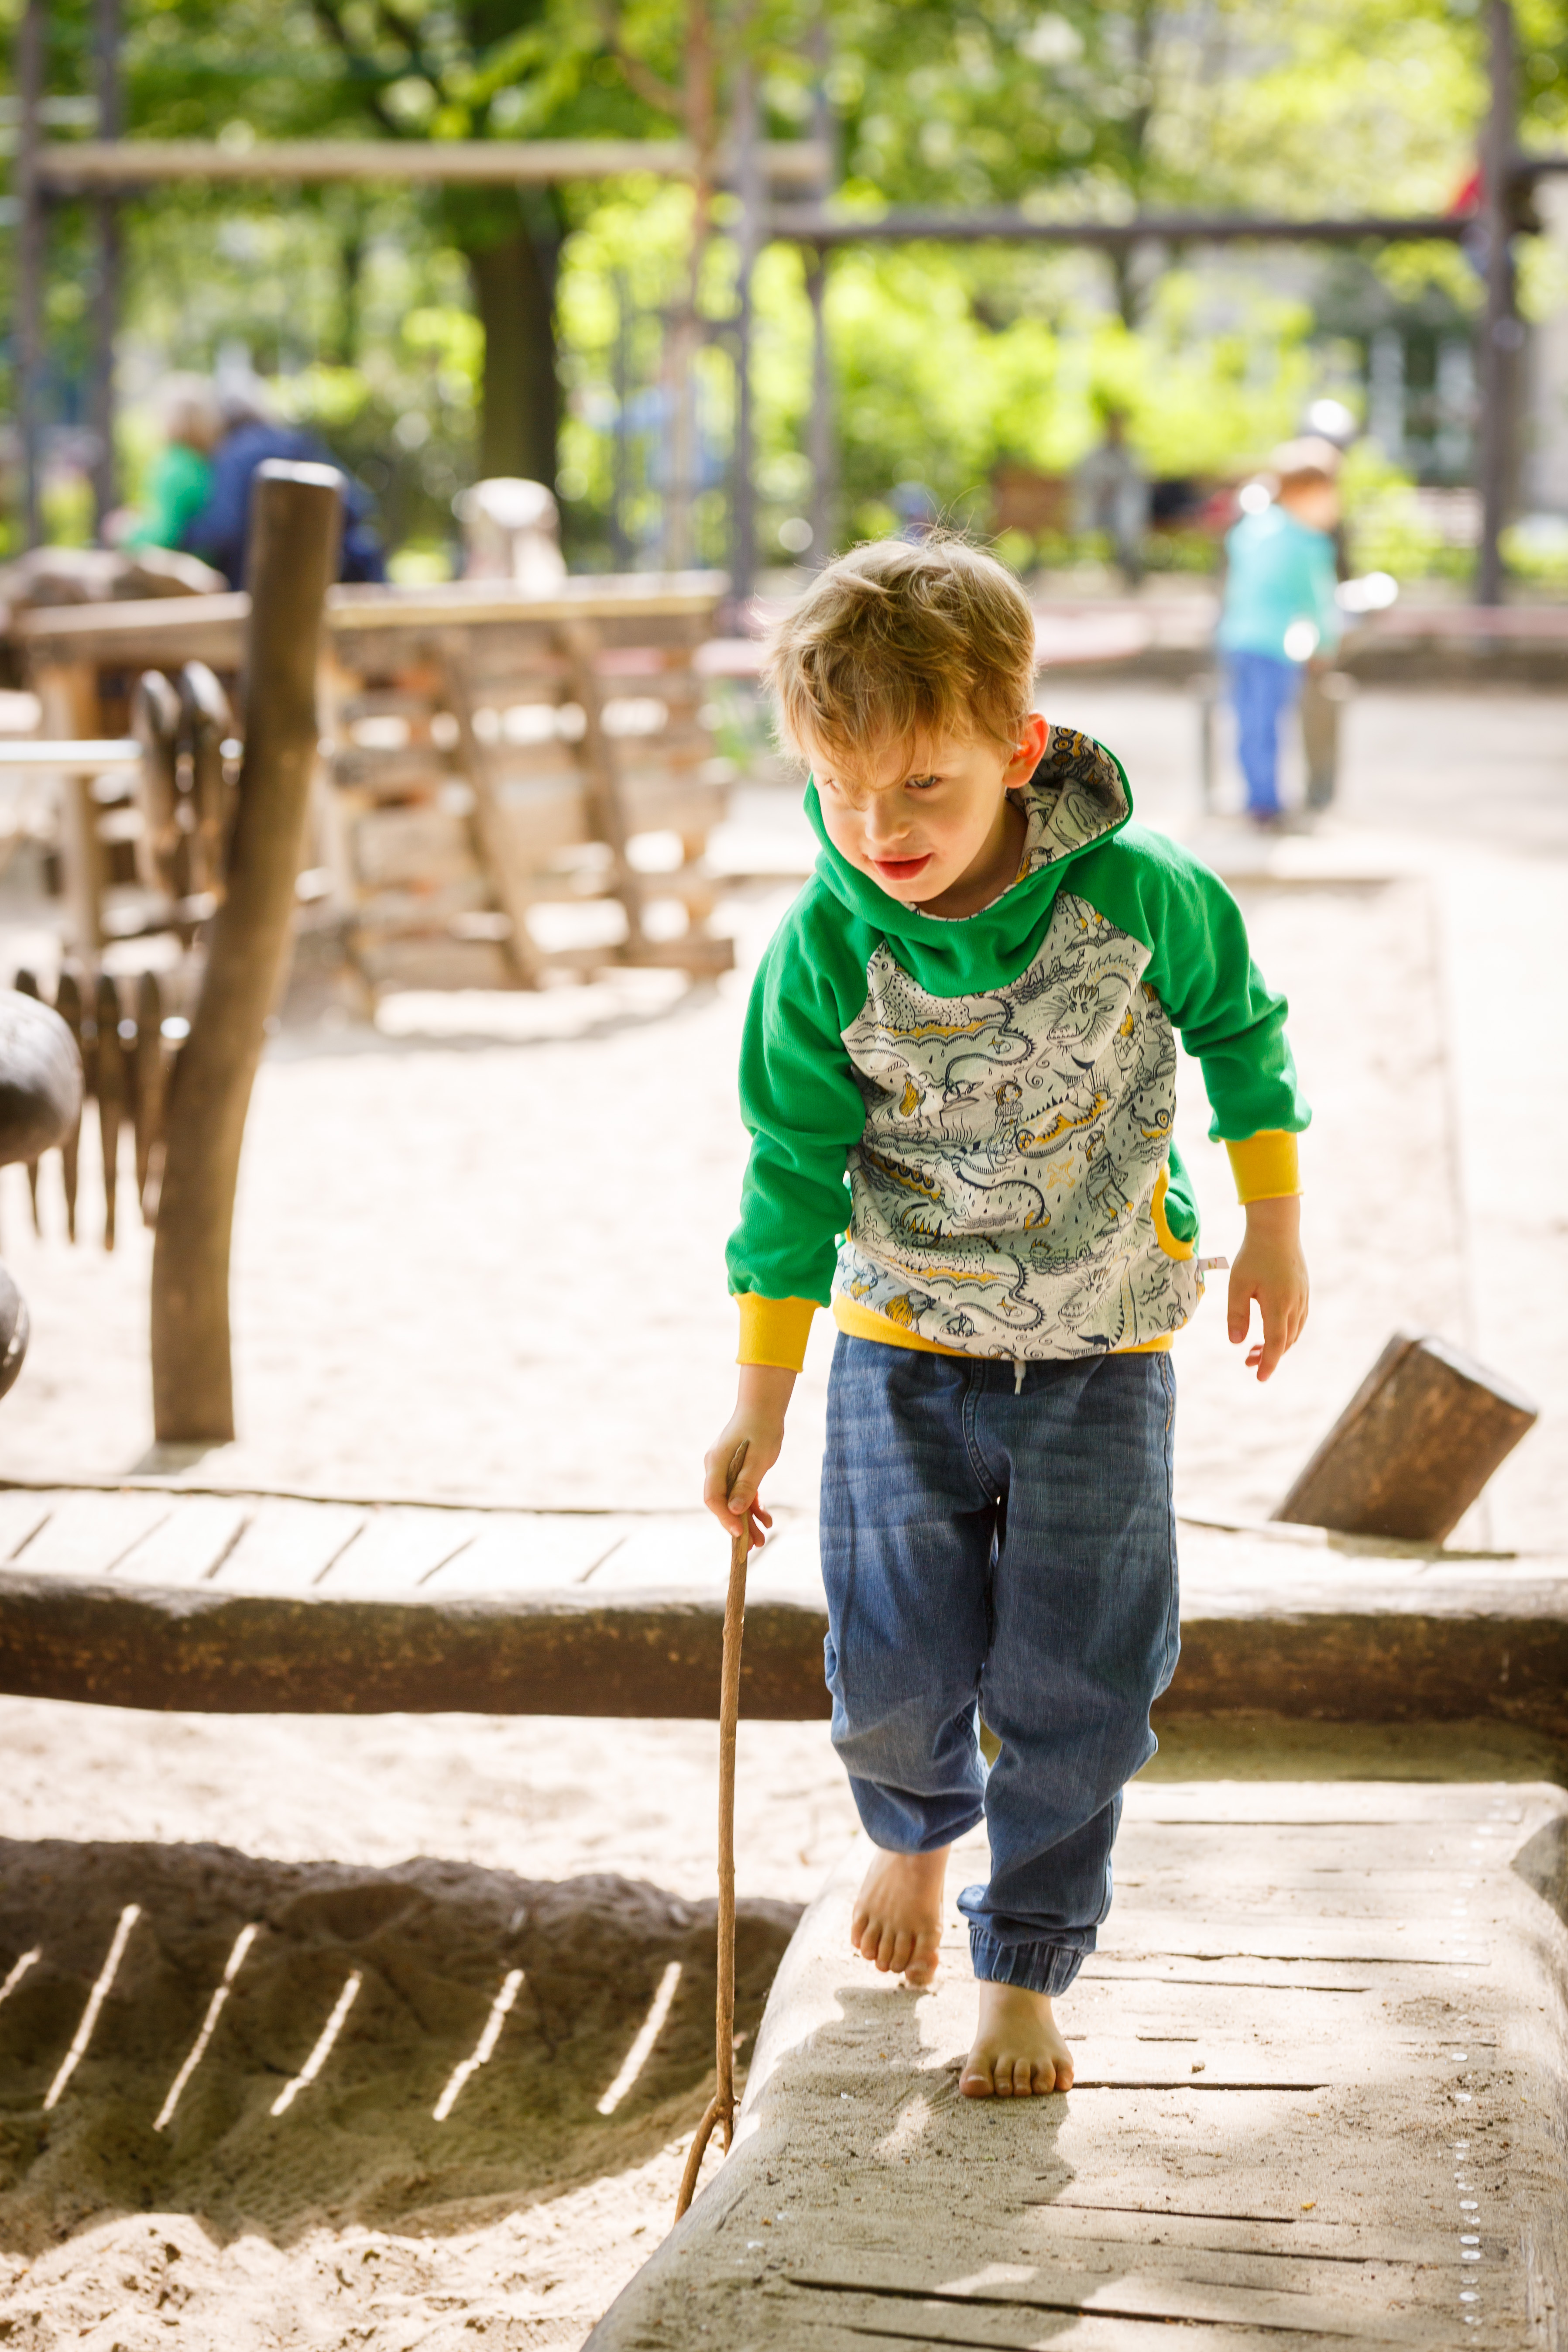
{"label": "tousled blond hair of the boy in the green hoodie", "polygon": [[1016,743],[1034,699],[1034,614],[994,555],[877,539],[818,572],[769,642],[785,743],[809,757],[980,731]]}

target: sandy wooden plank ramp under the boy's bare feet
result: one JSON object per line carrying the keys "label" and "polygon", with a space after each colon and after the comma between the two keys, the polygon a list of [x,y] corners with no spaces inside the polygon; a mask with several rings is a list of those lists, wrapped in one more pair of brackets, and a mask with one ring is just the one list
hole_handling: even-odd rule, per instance
{"label": "sandy wooden plank ramp under the boy's bare feet", "polygon": [[[853,1849],[776,1978],[736,2152],[592,2352],[1568,2340],[1568,1797],[1128,1790],[1065,2098],[971,2103],[943,1985],[853,1959]],[[954,1856],[950,1898],[983,1875]]]}

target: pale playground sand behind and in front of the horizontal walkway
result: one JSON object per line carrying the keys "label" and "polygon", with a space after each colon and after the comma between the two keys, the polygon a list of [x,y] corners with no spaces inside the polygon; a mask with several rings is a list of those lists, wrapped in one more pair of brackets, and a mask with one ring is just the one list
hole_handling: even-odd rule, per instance
{"label": "pale playground sand behind and in front of the horizontal walkway", "polygon": [[[1481,1016],[1483,1033],[1467,1061],[1443,1018],[1434,884],[1387,856],[1389,828],[1448,856],[1450,873],[1469,854],[1467,762],[1474,776],[1497,729],[1514,729],[1526,774],[1535,760],[1561,786],[1561,748],[1542,753],[1561,746],[1561,706],[1443,699],[1434,717],[1373,701],[1352,722],[1396,786],[1382,800],[1361,788],[1382,847],[1347,826],[1338,880],[1241,889],[1258,960],[1293,997],[1316,1110],[1314,1315],[1262,1390],[1225,1345],[1218,1291],[1182,1338],[1180,1494],[1206,1517],[1272,1508],[1396,1324],[1474,1345],[1552,1418],[1568,1409],[1568,1218],[1547,1181],[1568,1138],[1547,1129],[1561,1103],[1528,1089],[1544,1051],[1530,1033],[1549,1033],[1528,1004],[1530,974],[1544,974],[1561,936],[1561,842],[1526,837],[1528,793],[1523,814],[1488,802],[1476,873],[1490,889],[1476,920],[1507,955],[1495,997],[1469,1009],[1472,1044]],[[1190,821],[1171,750],[1178,741],[1187,757],[1190,706],[1074,689],[1070,715],[1133,753],[1154,816]],[[1352,760],[1352,783],[1366,774]],[[1422,804],[1418,783],[1432,776],[1446,797]],[[788,811],[773,821],[792,823]],[[1497,877],[1512,898],[1497,898]],[[743,964],[785,898],[738,903]],[[188,1475],[541,1508],[689,1505],[731,1388],[719,1242],[743,1157],[743,976],[691,995],[665,976],[625,976],[545,1000],[409,1002],[381,1033],[277,1037],[235,1235],[242,1439]],[[1519,1103],[1528,1112],[1512,1131]],[[1204,1129],[1190,1070],[1182,1150],[1206,1249],[1234,1251],[1239,1214]],[[1483,1197],[1476,1164],[1497,1178]],[[113,1258],[68,1251],[52,1183],[45,1171],[35,1242],[19,1171],[0,1176],[5,1254],[35,1322],[0,1414],[0,1475],[125,1475],[150,1449],[148,1237],[122,1235]],[[85,1230],[99,1230],[89,1183]],[[818,1329],[776,1477],[776,1498],[795,1505],[813,1501],[827,1352]],[[1547,1425],[1462,1536],[1561,1541],[1554,1451]],[[0,1700],[0,1830],[16,1842],[0,1889],[19,1905],[5,1952],[26,1931],[54,1955],[31,1992],[24,1980],[0,2006],[0,2046],[31,2067],[12,2084],[7,2056],[0,2098],[7,2345],[578,2345],[663,2232],[701,2107],[712,1729],[221,1722]],[[851,1828],[825,1726],[745,1726],[748,2032],[790,1907],[816,1893]],[[127,1903],[141,1919],[125,1973],[73,2089],[42,2117],[42,2077]],[[252,1919],[266,1933],[228,2020],[242,2023],[254,1966],[244,2037],[214,2034],[176,2114],[197,2138],[181,2154],[181,2129],[155,2133],[153,2117]],[[604,2119],[597,2100],[675,1959],[656,2063]],[[496,2056],[437,2126],[440,2084],[473,2056],[503,1966],[522,1966],[524,1985]],[[334,2067],[273,2119],[268,2100],[355,1969],[364,1990]],[[545,1992],[567,1987],[555,2011],[536,1973]],[[28,2009],[24,1994],[54,2006]]]}

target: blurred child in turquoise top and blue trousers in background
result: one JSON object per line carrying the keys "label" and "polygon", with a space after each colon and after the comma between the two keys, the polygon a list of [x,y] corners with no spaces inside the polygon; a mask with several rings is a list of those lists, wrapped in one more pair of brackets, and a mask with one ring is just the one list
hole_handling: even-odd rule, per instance
{"label": "blurred child in turquoise top and blue trousers in background", "polygon": [[1269,473],[1274,494],[1251,503],[1244,492],[1246,510],[1225,539],[1220,609],[1246,814],[1258,826],[1284,816],[1279,722],[1300,696],[1307,663],[1328,661],[1340,642],[1340,452],[1321,437],[1286,442]]}

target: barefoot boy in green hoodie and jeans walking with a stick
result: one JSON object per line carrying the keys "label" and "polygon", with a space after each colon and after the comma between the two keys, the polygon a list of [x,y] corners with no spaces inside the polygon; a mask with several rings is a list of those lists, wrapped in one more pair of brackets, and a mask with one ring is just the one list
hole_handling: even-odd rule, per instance
{"label": "barefoot boy in green hoodie and jeans walking with a stick", "polygon": [[929,1985],[947,1846],[985,1816],[990,1884],[959,1896],[980,1980],[961,2089],[1065,2091],[1051,1997],[1110,1907],[1121,1788],[1178,1649],[1166,1350],[1204,1284],[1175,1030],[1246,1202],[1229,1336],[1255,1298],[1258,1378],[1307,1317],[1307,1110],[1229,894],[1128,823],[1110,753],[1032,710],[1034,619],[1001,564],[940,539],[858,548],[780,626],[769,675],[823,849],[748,1016],[741,1392],[705,1501],[762,1541],[757,1489],[832,1296],[832,1740],[882,1849],[853,1945]]}

